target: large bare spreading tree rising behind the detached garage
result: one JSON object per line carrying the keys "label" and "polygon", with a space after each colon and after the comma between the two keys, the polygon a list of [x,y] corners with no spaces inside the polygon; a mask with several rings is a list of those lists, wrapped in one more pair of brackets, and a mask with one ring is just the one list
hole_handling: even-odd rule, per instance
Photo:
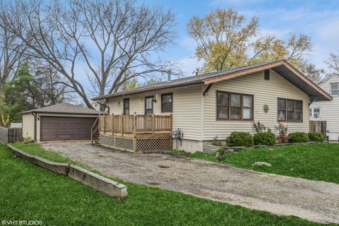
{"label": "large bare spreading tree rising behind the detached garage", "polygon": [[[0,27],[27,44],[30,56],[43,59],[93,108],[76,70],[85,64],[96,95],[119,90],[124,81],[155,73],[176,73],[157,53],[172,44],[171,11],[133,0],[8,1]],[[105,101],[105,100],[104,100]]]}

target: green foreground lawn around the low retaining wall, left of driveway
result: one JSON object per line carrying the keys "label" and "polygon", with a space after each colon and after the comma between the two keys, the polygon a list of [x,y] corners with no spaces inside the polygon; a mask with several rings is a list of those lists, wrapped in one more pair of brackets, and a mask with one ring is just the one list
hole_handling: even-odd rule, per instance
{"label": "green foreground lawn around the low retaining wall, left of driveway", "polygon": [[[49,160],[70,161],[40,145],[16,146]],[[44,225],[317,225],[126,182],[129,196],[117,200],[16,158],[4,145],[0,175],[0,220],[42,220]]]}

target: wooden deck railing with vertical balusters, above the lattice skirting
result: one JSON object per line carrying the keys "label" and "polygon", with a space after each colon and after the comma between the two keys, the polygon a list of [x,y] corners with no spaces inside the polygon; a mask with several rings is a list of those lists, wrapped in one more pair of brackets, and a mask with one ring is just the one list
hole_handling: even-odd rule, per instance
{"label": "wooden deck railing with vertical balusters, above the lattice skirting", "polygon": [[117,114],[100,115],[100,131],[103,133],[137,134],[172,133],[172,114]]}

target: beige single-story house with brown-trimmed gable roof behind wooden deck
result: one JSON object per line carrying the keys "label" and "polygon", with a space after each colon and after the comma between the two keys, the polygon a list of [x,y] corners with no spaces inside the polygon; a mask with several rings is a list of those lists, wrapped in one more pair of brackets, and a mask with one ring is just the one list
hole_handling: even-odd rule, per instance
{"label": "beige single-story house with brown-trimmed gable roof behind wooden deck", "polygon": [[215,136],[224,140],[233,131],[254,133],[254,121],[275,134],[279,122],[288,125],[288,132],[308,132],[309,103],[332,97],[281,60],[93,98],[102,99],[110,114],[172,114],[173,131],[183,133],[173,147],[193,152]]}

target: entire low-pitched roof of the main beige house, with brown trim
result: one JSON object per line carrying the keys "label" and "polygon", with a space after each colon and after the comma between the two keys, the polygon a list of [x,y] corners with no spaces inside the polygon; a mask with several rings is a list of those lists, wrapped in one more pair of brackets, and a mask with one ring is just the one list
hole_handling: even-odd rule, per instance
{"label": "entire low-pitched roof of the main beige house, with brown trim", "polygon": [[283,76],[283,78],[287,79],[287,81],[290,81],[290,83],[297,86],[297,88],[302,90],[304,93],[307,93],[307,95],[309,95],[311,99],[311,102],[332,100],[331,95],[329,95],[324,90],[319,88],[318,85],[310,81],[309,78],[307,78],[302,73],[297,71],[297,69],[295,69],[292,65],[290,65],[285,60],[264,62],[261,64],[242,66],[236,69],[229,69],[225,71],[215,71],[212,73],[205,73],[205,74],[201,74],[198,76],[179,78],[179,79],[175,79],[172,81],[166,81],[162,83],[156,83],[153,85],[144,86],[141,88],[135,88],[132,90],[121,91],[118,93],[112,93],[108,95],[94,97],[92,100],[102,100],[102,99],[107,99],[109,97],[119,97],[119,96],[143,93],[143,92],[153,91],[153,90],[162,90],[164,88],[174,88],[174,87],[180,87],[184,85],[191,85],[191,84],[197,84],[197,83],[204,83],[208,85],[210,83],[224,81],[224,80],[231,79],[231,78],[237,78],[239,76],[245,76],[249,73],[264,71],[266,69],[272,69],[273,71],[276,71],[277,73],[280,74],[280,76]]}

